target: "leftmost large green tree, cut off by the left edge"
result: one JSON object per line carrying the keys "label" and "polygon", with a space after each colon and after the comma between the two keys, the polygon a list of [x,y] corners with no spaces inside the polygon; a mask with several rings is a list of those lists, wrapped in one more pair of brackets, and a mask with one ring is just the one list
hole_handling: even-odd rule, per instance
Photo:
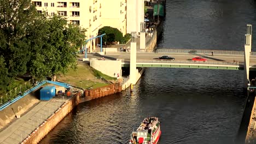
{"label": "leftmost large green tree, cut off by the left edge", "polygon": [[[36,9],[29,0],[0,1],[0,56],[8,73],[15,77],[26,73],[30,59],[26,33],[33,26]],[[8,83],[7,83],[8,84]]]}

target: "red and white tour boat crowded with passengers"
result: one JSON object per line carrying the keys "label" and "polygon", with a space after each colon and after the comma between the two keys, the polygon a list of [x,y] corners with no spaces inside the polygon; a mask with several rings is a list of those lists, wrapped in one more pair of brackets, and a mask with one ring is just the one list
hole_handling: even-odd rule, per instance
{"label": "red and white tour boat crowded with passengers", "polygon": [[132,131],[130,144],[156,144],[161,135],[160,122],[157,117],[143,120],[136,131]]}

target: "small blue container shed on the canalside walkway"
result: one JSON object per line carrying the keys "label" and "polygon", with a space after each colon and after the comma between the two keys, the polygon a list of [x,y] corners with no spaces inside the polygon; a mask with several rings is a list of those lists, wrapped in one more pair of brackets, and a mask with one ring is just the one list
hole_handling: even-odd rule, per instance
{"label": "small blue container shed on the canalside walkway", "polygon": [[40,89],[40,100],[50,100],[55,96],[55,86],[45,86]]}

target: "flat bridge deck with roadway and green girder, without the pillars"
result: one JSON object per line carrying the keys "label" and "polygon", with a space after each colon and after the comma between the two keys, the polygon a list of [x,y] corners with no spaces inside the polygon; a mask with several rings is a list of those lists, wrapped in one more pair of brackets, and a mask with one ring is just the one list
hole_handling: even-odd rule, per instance
{"label": "flat bridge deck with roadway and green girder, without the pillars", "polygon": [[[162,55],[174,57],[175,60],[158,59]],[[192,62],[191,58],[200,56],[207,62]],[[90,58],[100,59],[101,55],[89,54]],[[108,60],[121,59],[122,67],[130,67],[130,52],[108,52],[104,55]],[[155,52],[137,51],[136,67],[153,68],[197,68],[197,69],[244,69],[243,51],[214,51],[211,56],[210,50],[185,50],[185,49],[158,49]],[[251,52],[250,70],[256,70],[256,52]]]}

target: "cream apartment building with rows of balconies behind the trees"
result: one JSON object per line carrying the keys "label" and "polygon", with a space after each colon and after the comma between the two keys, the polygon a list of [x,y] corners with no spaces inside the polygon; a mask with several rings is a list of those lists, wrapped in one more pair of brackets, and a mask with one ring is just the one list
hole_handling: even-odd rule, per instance
{"label": "cream apartment building with rows of balconies behind the trees", "polygon": [[[118,28],[126,34],[126,0],[32,0],[38,13],[67,18],[69,23],[87,30],[86,39],[96,37],[103,26]],[[96,39],[88,41],[89,51],[95,49]]]}

